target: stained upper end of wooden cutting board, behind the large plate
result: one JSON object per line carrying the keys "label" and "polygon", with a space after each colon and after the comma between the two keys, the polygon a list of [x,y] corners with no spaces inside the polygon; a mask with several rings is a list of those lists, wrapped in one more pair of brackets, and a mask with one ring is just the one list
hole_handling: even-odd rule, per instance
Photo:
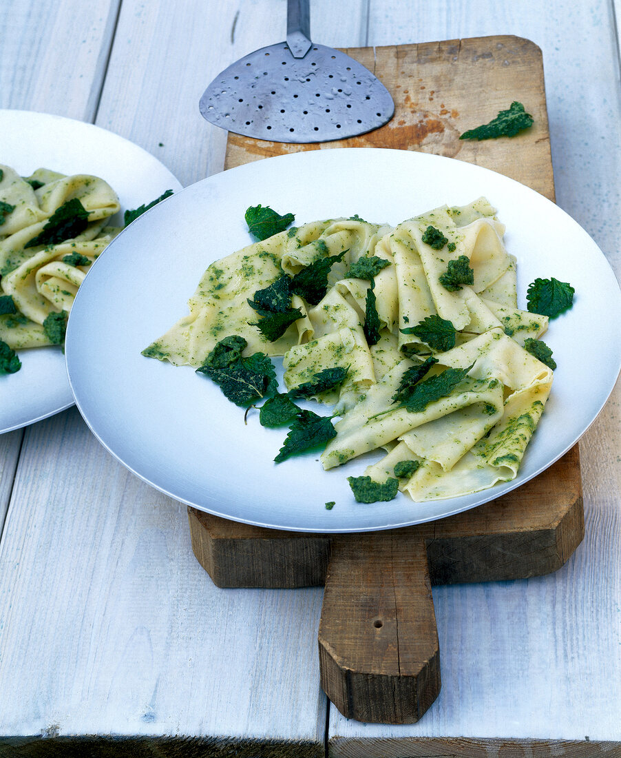
{"label": "stained upper end of wooden cutting board, behind the large plate", "polygon": [[[495,55],[488,38],[347,49],[348,55],[373,70],[391,92],[395,100],[392,121],[368,134],[314,145],[271,143],[231,134],[225,167],[308,149],[388,147],[482,165],[554,199],[541,52],[528,39],[518,37],[498,36],[494,45]],[[473,102],[470,92],[475,86],[486,92],[485,100]],[[490,113],[508,108],[508,92],[528,105],[535,118],[532,130],[514,138],[508,151],[504,140],[489,144],[459,139],[467,129],[489,121]],[[515,151],[524,159],[516,160]]]}

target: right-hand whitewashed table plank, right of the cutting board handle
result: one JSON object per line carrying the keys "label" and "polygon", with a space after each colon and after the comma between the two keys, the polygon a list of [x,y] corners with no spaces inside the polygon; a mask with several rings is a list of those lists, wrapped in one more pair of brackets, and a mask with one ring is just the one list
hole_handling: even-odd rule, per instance
{"label": "right-hand whitewashed table plank, right of the cutting board handle", "polygon": [[[621,135],[608,124],[618,121],[621,104],[611,8],[610,2],[482,0],[473,13],[463,2],[432,11],[420,0],[386,0],[371,3],[369,42],[405,44],[501,29],[540,45],[557,202],[594,236],[619,276]],[[601,44],[592,45],[593,39]],[[485,101],[479,87],[472,96]],[[619,390],[617,385],[580,443],[586,532],[579,550],[547,577],[435,587],[440,697],[417,725],[390,729],[331,709],[332,756],[621,753]]]}

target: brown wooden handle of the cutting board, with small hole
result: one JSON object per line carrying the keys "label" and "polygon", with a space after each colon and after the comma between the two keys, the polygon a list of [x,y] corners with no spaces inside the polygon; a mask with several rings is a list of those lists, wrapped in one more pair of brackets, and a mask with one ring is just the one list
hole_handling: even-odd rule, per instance
{"label": "brown wooden handle of the cutting board, with small hole", "polygon": [[403,530],[332,540],[319,653],[323,690],[348,719],[423,716],[440,691],[425,540]]}

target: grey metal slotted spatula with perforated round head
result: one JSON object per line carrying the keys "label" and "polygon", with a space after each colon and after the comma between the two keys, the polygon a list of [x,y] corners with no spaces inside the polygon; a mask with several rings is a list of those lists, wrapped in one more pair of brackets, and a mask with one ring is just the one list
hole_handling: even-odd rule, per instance
{"label": "grey metal slotted spatula with perforated round head", "polygon": [[201,114],[230,132],[287,143],[345,139],[390,121],[392,97],[370,70],[310,38],[308,0],[288,0],[287,41],[223,70]]}

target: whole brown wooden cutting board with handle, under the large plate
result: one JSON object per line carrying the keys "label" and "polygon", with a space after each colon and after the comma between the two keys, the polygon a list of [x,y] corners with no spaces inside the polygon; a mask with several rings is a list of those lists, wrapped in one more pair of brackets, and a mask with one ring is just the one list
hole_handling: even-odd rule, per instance
{"label": "whole brown wooden cutting board with handle, under the large plate", "polygon": [[[391,92],[389,124],[311,145],[229,134],[225,168],[299,150],[389,147],[470,161],[554,200],[543,62],[533,42],[491,36],[345,52]],[[535,118],[530,130],[480,143],[459,139],[513,100]],[[416,722],[440,691],[432,584],[552,572],[584,536],[578,446],[485,506],[399,530],[298,534],[188,512],[195,556],[219,587],[325,584],[322,687],[344,716],[393,724]]]}

